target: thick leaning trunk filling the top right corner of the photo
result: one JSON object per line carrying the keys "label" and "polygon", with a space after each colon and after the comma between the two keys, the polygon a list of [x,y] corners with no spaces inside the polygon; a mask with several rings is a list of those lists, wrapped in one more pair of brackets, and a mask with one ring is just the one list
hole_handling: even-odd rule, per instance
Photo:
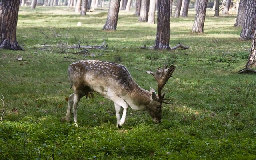
{"label": "thick leaning trunk filling the top right corner of the photo", "polygon": [[253,34],[256,26],[256,0],[247,0],[246,12],[242,32],[240,34],[240,40],[250,40],[253,38]]}

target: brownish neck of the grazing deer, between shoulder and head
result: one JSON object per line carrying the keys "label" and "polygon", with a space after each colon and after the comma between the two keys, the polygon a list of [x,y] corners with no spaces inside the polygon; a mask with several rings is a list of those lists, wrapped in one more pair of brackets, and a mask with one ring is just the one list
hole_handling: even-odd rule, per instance
{"label": "brownish neck of the grazing deer, between shoulder and head", "polygon": [[134,110],[147,110],[147,105],[150,103],[151,93],[136,85],[124,97],[122,97],[128,105]]}

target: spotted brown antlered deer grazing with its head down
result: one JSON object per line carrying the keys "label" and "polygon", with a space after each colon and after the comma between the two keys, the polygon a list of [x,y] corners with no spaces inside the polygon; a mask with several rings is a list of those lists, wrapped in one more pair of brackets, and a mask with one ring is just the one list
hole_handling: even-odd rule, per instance
{"label": "spotted brown antlered deer grazing with its head down", "polygon": [[[93,97],[94,91],[114,102],[117,127],[124,124],[128,106],[134,110],[147,110],[154,122],[161,122],[162,103],[171,104],[164,101],[161,90],[172,77],[175,67],[172,65],[167,68],[165,65],[161,70],[158,68],[156,73],[147,72],[152,74],[158,83],[157,95],[152,88],[150,92],[140,88],[123,65],[98,60],[81,60],[72,63],[68,67],[68,78],[74,93],[68,98],[66,120],[70,122],[70,112],[73,107],[74,123],[77,125],[77,104],[83,96]],[[121,107],[124,110],[120,119]]]}

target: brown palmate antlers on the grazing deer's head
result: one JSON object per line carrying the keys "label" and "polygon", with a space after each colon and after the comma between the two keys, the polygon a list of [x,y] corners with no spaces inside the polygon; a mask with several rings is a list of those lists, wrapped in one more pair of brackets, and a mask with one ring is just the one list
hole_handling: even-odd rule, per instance
{"label": "brown palmate antlers on the grazing deer's head", "polygon": [[153,72],[147,72],[149,74],[152,74],[154,76],[154,78],[156,79],[156,82],[158,84],[158,97],[159,97],[159,102],[161,103],[165,103],[165,104],[172,104],[169,102],[165,102],[164,100],[164,94],[161,94],[161,90],[162,88],[164,88],[164,85],[168,82],[169,78],[172,77],[172,73],[174,72],[176,66],[171,65],[169,68],[167,68],[167,64],[164,65],[164,68],[160,69],[160,67],[158,68],[158,70],[156,71],[156,73]]}

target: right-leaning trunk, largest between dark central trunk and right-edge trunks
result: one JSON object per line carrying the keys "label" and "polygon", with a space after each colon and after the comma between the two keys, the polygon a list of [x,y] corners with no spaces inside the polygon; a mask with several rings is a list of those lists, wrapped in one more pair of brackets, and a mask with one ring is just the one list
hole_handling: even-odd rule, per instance
{"label": "right-leaning trunk, largest between dark central trunk and right-edge trunks", "polygon": [[207,1],[208,0],[198,0],[198,7],[196,10],[196,17],[192,27],[192,32],[196,32],[196,33],[204,32],[204,20],[205,20]]}

